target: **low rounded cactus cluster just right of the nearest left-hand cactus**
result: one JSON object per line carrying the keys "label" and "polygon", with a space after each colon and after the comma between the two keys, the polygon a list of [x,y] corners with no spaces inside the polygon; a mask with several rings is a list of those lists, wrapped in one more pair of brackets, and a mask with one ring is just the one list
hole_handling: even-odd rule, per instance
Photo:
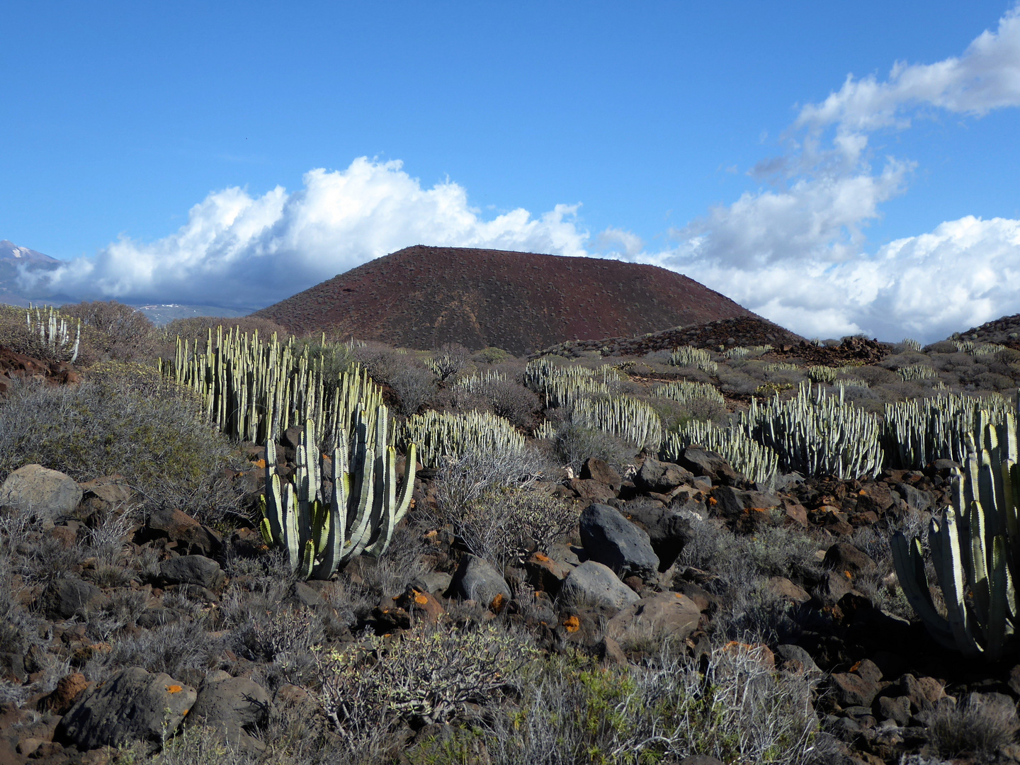
{"label": "low rounded cactus cluster just right of the nearest left-hand cactus", "polygon": [[436,468],[444,457],[459,459],[472,451],[516,454],[524,449],[524,437],[510,421],[488,412],[464,414],[437,412],[408,417],[400,428],[398,444],[418,445],[418,459]]}

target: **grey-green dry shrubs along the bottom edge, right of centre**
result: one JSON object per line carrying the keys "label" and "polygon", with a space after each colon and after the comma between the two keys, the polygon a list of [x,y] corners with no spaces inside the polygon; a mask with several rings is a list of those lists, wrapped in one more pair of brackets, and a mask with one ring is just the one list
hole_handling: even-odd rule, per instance
{"label": "grey-green dry shrubs along the bottom edge, right of centre", "polygon": [[[760,648],[729,645],[708,657],[704,674],[668,645],[641,666],[602,667],[576,654],[531,661],[519,675],[524,698],[492,722],[427,738],[413,763],[450,758],[483,745],[499,765],[679,762],[692,755],[724,762],[800,765],[818,727],[807,679],[777,673]],[[471,746],[473,744],[473,747]]]}

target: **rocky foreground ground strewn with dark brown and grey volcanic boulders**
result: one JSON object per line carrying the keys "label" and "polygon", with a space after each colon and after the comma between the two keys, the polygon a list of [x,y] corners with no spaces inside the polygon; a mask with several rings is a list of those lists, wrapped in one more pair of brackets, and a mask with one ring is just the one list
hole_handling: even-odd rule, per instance
{"label": "rocky foreground ground strewn with dark brown and grey volcanic boulders", "polygon": [[[247,450],[252,468],[235,480],[252,497],[264,452]],[[0,762],[118,761],[110,747],[158,742],[185,720],[221,726],[241,750],[264,751],[282,715],[322,716],[315,682],[295,679],[300,672],[288,681],[266,649],[282,640],[272,630],[308,620],[320,625],[325,646],[399,634],[420,621],[493,620],[525,630],[544,652],[577,649],[606,665],[640,663],[648,636],[668,634],[697,662],[734,623],[722,612],[733,605],[725,574],[694,565],[707,560],[697,549],[711,539],[759,538],[801,541],[800,553],[773,555],[778,568],[746,594],[772,614],[773,642],[758,647],[760,660],[810,677],[827,761],[898,762],[931,750],[931,726],[956,702],[1013,709],[1020,696],[1020,665],[965,663],[905,618],[903,604],[890,605],[881,540],[947,501],[951,466],[864,482],[792,475],[768,489],[695,448],[679,464],[647,457],[624,476],[589,460],[580,475],[538,488],[572,502],[576,525],[504,571],[466,554],[449,528],[412,523],[405,532],[417,539],[410,555],[396,553],[396,567],[359,558],[336,581],[284,576],[278,602],[256,573],[272,553],[249,524],[221,536],[162,511],[129,525],[138,498],[116,476],[75,483],[26,466],[0,490],[3,542],[17,571],[7,573],[5,594],[12,602],[0,655]],[[435,503],[424,476],[420,507]],[[367,600],[353,606],[352,591]],[[239,627],[246,599],[270,612]],[[395,754],[417,735],[409,728]],[[1020,749],[994,756],[1020,761]]]}

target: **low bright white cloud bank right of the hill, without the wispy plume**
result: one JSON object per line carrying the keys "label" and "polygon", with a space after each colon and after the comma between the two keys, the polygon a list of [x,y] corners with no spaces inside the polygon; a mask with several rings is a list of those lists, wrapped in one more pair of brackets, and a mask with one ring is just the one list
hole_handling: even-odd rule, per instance
{"label": "low bright white cloud bank right of the hill, without the wispy plume", "polygon": [[639,260],[682,270],[807,337],[865,332],[941,340],[1020,312],[1020,220],[973,216],[838,263],[777,259],[760,267],[685,262],[676,251]]}

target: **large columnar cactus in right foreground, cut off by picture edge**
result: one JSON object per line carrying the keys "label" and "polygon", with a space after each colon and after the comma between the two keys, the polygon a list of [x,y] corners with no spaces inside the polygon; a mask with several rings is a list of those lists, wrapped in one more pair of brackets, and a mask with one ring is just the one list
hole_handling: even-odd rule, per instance
{"label": "large columnar cactus in right foreground, cut off by picture edge", "polygon": [[931,563],[946,603],[935,607],[919,540],[892,537],[892,559],[907,599],[928,632],[966,656],[999,659],[1018,619],[1014,582],[1020,574],[1020,472],[1016,418],[967,436],[964,469],[953,470],[953,505],[928,527]]}

